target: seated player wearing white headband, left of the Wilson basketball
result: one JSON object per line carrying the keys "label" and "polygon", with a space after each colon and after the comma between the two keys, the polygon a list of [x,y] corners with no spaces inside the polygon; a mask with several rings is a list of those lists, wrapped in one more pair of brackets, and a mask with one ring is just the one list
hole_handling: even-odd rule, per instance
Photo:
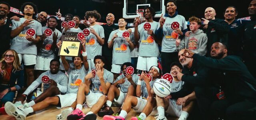
{"label": "seated player wearing white headband, left of the Wilson basketball", "polygon": [[[154,102],[153,95],[150,93],[151,88],[153,87],[154,82],[161,77],[162,71],[160,68],[157,66],[152,66],[149,70],[150,76],[152,76],[152,81],[150,81],[150,77],[147,76],[144,72],[140,75],[140,78],[138,80],[138,85],[136,87],[136,96],[127,96],[124,100],[124,105],[122,107],[122,110],[120,112],[119,116],[104,116],[104,120],[115,120],[115,119],[120,119],[120,120],[125,120],[124,118],[127,116],[127,113],[130,112],[130,110],[133,109],[136,112],[142,112],[144,107],[146,106],[147,101],[148,102]],[[143,79],[143,81],[142,81]],[[141,97],[140,97],[141,96]],[[140,97],[140,98],[139,98]],[[151,105],[151,104],[148,104]],[[148,109],[148,111],[151,112],[151,115],[157,115],[157,111],[153,110],[153,106],[156,105],[151,105],[151,110]]]}

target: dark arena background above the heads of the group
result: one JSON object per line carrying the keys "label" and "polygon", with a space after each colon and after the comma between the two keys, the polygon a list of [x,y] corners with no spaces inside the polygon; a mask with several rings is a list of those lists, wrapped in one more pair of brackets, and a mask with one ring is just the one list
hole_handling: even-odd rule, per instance
{"label": "dark arena background above the heads of the group", "polygon": [[[38,12],[45,11],[49,15],[56,15],[55,12],[65,14],[70,13],[80,16],[84,19],[86,11],[97,10],[102,18],[99,22],[106,22],[106,15],[111,12],[115,15],[117,23],[118,18],[122,17],[122,9],[124,0],[3,0],[8,2],[10,6],[20,9],[24,2],[33,2],[38,7]],[[224,19],[223,12],[227,6],[235,6],[238,9],[238,17],[243,18],[248,16],[248,5],[251,0],[176,0],[178,14],[185,17],[186,21],[190,16],[204,18],[204,10],[207,7],[213,7],[216,10],[216,18]],[[166,0],[165,0],[166,2]],[[10,12],[10,16],[18,15]],[[159,18],[154,18],[158,21]],[[133,22],[129,19],[128,22]]]}

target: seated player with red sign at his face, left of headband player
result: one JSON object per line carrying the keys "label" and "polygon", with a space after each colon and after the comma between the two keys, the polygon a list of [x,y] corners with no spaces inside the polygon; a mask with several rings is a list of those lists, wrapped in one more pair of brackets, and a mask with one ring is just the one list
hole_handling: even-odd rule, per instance
{"label": "seated player with red sign at his face, left of headband player", "polygon": [[108,90],[106,107],[98,112],[98,116],[103,117],[105,115],[112,115],[114,113],[111,108],[114,99],[119,105],[122,105],[126,96],[134,96],[134,88],[136,88],[135,83],[138,82],[140,77],[136,74],[136,69],[134,69],[134,73],[132,75],[126,74],[126,68],[129,66],[133,67],[130,62],[125,62],[122,64],[122,75],[118,76],[114,84],[110,86]]}

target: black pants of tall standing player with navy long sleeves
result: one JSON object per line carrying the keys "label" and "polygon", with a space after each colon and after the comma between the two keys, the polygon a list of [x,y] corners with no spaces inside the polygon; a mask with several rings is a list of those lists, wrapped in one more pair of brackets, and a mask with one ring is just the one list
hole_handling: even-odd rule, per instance
{"label": "black pants of tall standing player with navy long sleeves", "polygon": [[162,60],[162,73],[170,73],[171,71],[171,64],[172,62],[178,62],[178,52],[162,52],[161,53],[161,60]]}

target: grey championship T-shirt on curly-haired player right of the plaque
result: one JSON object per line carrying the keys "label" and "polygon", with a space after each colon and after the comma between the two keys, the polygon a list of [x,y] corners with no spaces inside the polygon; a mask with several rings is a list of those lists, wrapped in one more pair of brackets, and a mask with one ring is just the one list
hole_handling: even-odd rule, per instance
{"label": "grey championship T-shirt on curly-haired player right of the plaque", "polygon": [[[95,32],[100,36],[100,38],[104,38],[104,28],[98,24],[94,26],[90,26],[86,28],[90,31],[93,28]],[[90,32],[89,36],[86,36],[86,51],[87,51],[87,59],[94,59],[96,55],[102,54],[102,46],[98,42],[96,36]]]}

